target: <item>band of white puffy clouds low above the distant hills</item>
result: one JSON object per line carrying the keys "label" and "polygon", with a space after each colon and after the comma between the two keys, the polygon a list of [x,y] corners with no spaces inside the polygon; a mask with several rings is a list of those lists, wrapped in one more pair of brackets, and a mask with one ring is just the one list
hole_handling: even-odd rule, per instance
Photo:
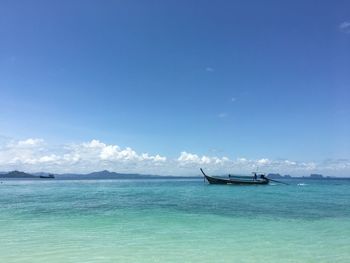
{"label": "band of white puffy clouds low above the distant hills", "polygon": [[268,158],[233,159],[187,151],[182,151],[178,157],[169,158],[161,154],[138,153],[130,147],[121,148],[96,139],[82,143],[49,145],[43,139],[28,138],[9,140],[0,145],[0,171],[88,173],[107,169],[123,173],[197,175],[199,167],[221,174],[250,173],[258,170],[292,176],[316,172],[331,176],[347,176],[350,171],[350,160],[298,162]]}

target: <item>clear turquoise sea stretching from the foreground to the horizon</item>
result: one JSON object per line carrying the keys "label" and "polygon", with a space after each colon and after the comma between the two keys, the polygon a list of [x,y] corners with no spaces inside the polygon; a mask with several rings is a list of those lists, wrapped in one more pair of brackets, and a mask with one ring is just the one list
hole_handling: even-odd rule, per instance
{"label": "clear turquoise sea stretching from the foreground to the horizon", "polygon": [[350,181],[7,180],[0,262],[350,262]]}

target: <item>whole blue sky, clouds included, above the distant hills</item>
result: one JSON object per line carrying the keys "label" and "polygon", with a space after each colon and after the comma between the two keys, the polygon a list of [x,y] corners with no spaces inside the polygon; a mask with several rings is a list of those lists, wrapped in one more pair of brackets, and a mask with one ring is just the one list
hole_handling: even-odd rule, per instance
{"label": "whole blue sky, clouds included, above the distant hills", "polygon": [[0,170],[350,175],[349,1],[0,2]]}

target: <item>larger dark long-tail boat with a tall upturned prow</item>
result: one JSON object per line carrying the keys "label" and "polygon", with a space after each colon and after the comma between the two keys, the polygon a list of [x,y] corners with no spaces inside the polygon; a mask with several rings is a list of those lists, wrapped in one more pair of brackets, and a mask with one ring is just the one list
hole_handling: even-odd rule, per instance
{"label": "larger dark long-tail boat with a tall upturned prow", "polygon": [[200,168],[204,178],[209,182],[209,184],[243,184],[243,185],[252,185],[252,184],[268,184],[270,179],[266,178],[264,174],[254,174],[253,177],[242,177],[242,176],[231,176],[229,175],[228,179],[209,176],[206,175],[202,168]]}

